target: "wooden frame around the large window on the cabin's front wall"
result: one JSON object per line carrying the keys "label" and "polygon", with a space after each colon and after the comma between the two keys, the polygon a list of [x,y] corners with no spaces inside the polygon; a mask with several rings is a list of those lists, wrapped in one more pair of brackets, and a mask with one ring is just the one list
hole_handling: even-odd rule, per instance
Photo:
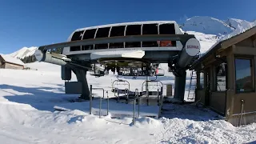
{"label": "wooden frame around the large window on the cabin's front wall", "polygon": [[[243,59],[243,60],[250,60],[250,74],[251,74],[251,81],[253,82],[253,89],[248,91],[238,91],[237,90],[237,70],[236,70],[236,59]],[[255,62],[254,62],[254,56],[253,55],[234,55],[234,91],[235,94],[248,94],[248,93],[254,93],[255,92]]]}

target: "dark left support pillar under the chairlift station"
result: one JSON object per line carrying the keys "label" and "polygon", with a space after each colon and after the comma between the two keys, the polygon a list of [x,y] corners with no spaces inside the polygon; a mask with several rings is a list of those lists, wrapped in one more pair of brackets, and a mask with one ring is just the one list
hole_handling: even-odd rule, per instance
{"label": "dark left support pillar under the chairlift station", "polygon": [[82,83],[82,94],[81,98],[89,100],[90,99],[90,90],[86,79],[87,70],[74,70],[74,74],[76,74],[78,82]]}

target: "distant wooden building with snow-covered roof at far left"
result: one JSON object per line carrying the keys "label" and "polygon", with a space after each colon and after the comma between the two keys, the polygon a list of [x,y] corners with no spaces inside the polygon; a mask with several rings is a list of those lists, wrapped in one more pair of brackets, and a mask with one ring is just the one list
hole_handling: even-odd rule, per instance
{"label": "distant wooden building with snow-covered roof at far left", "polygon": [[5,54],[0,54],[0,68],[2,69],[22,70],[24,69],[24,65],[25,64],[18,58],[13,58]]}

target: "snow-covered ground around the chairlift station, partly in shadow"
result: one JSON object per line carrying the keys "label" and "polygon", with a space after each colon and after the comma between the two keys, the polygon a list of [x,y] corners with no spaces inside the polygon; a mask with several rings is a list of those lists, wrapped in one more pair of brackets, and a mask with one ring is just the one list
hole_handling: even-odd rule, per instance
{"label": "snow-covered ground around the chairlift station, partly in shadow", "polygon": [[[77,98],[64,94],[60,67],[33,63],[38,70],[0,69],[0,140],[2,143],[245,143],[256,141],[256,123],[234,127],[218,114],[190,105],[165,104],[162,118],[111,118],[82,110],[55,111]],[[165,66],[162,66],[165,67]],[[110,90],[116,77],[108,75],[88,81]],[[131,89],[141,87],[142,78],[131,80]],[[72,81],[76,78],[73,76]],[[172,75],[161,78],[173,82]],[[100,91],[95,91],[101,94]],[[76,105],[76,102],[73,102]],[[86,107],[86,102],[80,102]],[[83,105],[84,104],[84,105]],[[71,104],[70,104],[71,105]],[[80,107],[81,107],[80,106]]]}

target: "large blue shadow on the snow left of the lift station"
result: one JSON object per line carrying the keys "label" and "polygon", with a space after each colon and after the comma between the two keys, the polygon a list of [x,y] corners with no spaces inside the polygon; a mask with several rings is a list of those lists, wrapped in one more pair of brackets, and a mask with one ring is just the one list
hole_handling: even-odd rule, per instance
{"label": "large blue shadow on the snow left of the lift station", "polygon": [[[6,89],[12,89],[23,94],[15,94],[16,92],[9,92]],[[54,105],[57,103],[70,102],[74,98],[78,98],[75,94],[65,94],[63,86],[52,88],[0,85],[0,91],[10,94],[4,96],[10,102],[28,104],[37,110],[54,111]]]}

